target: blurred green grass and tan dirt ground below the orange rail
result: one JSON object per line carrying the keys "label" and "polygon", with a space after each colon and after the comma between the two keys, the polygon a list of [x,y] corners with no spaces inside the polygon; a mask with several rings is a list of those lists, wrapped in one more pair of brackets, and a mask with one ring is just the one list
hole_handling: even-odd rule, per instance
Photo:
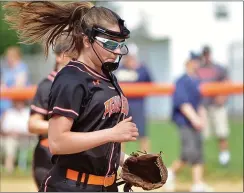
{"label": "blurred green grass and tan dirt ground below the orange rail", "polygon": [[[218,146],[213,137],[205,141],[205,178],[216,191],[242,191],[243,190],[243,120],[230,122],[231,135],[229,139],[231,162],[228,166],[222,167],[218,163]],[[176,127],[167,121],[150,121],[148,124],[149,136],[152,143],[152,152],[163,152],[163,159],[167,166],[179,154],[179,137]],[[130,154],[138,150],[136,142],[126,145],[126,153]],[[30,154],[31,159],[31,154]],[[29,160],[31,162],[31,160]],[[190,186],[191,173],[185,168],[177,176],[180,184],[178,191],[188,191]],[[13,175],[6,175],[1,172],[0,190],[24,192],[36,191],[31,177],[31,171],[17,171]],[[141,190],[139,190],[141,191]],[[163,190],[162,190],[163,191]]]}

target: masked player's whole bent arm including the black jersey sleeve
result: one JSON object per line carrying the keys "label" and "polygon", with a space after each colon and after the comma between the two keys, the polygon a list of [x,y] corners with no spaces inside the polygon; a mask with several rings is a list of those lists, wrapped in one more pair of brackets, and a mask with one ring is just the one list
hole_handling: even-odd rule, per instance
{"label": "masked player's whole bent arm including the black jersey sleeve", "polygon": [[56,77],[50,92],[48,141],[51,153],[74,154],[108,142],[135,141],[138,131],[131,117],[113,128],[93,132],[71,131],[75,120],[84,113],[81,106],[87,92],[85,84],[77,83],[77,78],[72,77],[66,74]]}

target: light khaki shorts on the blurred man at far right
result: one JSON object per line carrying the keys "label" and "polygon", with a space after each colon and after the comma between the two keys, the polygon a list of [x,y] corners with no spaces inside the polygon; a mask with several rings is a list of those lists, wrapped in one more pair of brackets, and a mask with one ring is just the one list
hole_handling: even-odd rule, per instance
{"label": "light khaki shorts on the blurred man at far right", "polygon": [[209,138],[214,131],[218,138],[227,138],[229,136],[228,113],[225,106],[210,105],[207,110],[207,123],[203,130],[205,138]]}

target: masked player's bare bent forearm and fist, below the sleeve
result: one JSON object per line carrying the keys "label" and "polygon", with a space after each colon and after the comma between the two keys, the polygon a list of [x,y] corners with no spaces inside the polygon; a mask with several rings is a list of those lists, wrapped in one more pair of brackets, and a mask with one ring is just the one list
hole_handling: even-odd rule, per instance
{"label": "masked player's bare bent forearm and fist, below the sleeve", "polygon": [[93,132],[72,132],[74,120],[54,115],[49,120],[48,141],[52,154],[74,154],[109,142],[135,141],[139,135],[129,117],[113,128]]}

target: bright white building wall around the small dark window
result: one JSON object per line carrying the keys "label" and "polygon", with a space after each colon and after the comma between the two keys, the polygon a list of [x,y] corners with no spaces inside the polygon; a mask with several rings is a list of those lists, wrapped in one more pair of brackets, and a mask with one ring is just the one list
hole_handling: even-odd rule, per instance
{"label": "bright white building wall around the small dark window", "polygon": [[228,46],[243,41],[243,2],[217,2],[227,6],[229,18],[214,17],[216,2],[116,2],[119,14],[130,30],[135,29],[142,16],[154,38],[189,39],[191,48],[200,51],[202,44],[212,44],[214,57],[227,63]]}

